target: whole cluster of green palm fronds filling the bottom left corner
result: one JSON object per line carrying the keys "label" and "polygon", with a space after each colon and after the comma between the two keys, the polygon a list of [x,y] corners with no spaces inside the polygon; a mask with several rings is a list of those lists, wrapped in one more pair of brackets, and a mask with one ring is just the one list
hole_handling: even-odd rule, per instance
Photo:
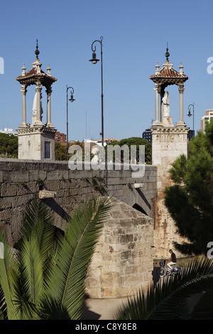
{"label": "whole cluster of green palm fronds filling the bottom left corner", "polygon": [[0,318],[80,319],[87,269],[110,208],[107,197],[92,200],[75,211],[62,232],[45,203],[33,200],[13,252],[1,227]]}

